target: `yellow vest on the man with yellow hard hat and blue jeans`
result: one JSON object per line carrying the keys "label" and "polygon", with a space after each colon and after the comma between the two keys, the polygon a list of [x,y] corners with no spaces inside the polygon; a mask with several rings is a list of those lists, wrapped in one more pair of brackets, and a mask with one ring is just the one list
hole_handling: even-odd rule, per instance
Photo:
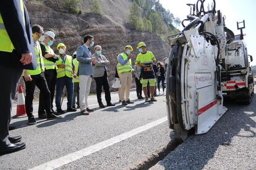
{"label": "yellow vest on the man with yellow hard hat and blue jeans", "polygon": [[65,64],[65,68],[58,68],[57,78],[62,78],[64,76],[73,78],[72,57],[70,55],[66,55],[65,63],[62,61],[61,57],[59,57],[59,60],[56,61],[56,65],[60,64]]}

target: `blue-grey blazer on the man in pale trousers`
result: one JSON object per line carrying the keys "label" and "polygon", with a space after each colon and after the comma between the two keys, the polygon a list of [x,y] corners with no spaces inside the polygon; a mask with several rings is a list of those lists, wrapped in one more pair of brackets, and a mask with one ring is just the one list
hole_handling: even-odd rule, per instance
{"label": "blue-grey blazer on the man in pale trousers", "polygon": [[77,61],[79,61],[79,76],[93,74],[92,53],[85,44],[77,48]]}

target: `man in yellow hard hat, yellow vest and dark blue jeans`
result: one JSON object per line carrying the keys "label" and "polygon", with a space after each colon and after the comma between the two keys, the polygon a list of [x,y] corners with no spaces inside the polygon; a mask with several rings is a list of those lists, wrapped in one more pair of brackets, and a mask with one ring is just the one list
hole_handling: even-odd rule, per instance
{"label": "man in yellow hard hat, yellow vest and dark blue jeans", "polygon": [[72,108],[72,100],[74,94],[74,82],[73,77],[76,78],[77,74],[75,71],[75,65],[72,61],[72,57],[66,54],[67,47],[63,43],[59,43],[57,46],[59,51],[59,60],[56,61],[58,67],[57,70],[57,81],[56,81],[56,107],[59,114],[63,114],[64,111],[61,109],[61,95],[64,86],[67,88],[67,111],[77,111]]}

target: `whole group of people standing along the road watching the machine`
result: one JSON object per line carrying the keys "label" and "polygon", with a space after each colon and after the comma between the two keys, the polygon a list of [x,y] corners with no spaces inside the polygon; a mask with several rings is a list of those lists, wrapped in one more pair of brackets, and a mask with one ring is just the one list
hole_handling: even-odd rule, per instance
{"label": "whole group of people standing along the road watching the machine", "polygon": [[[106,66],[109,61],[101,54],[101,46],[94,46],[93,36],[83,38],[84,44],[77,48],[72,56],[67,54],[64,43],[57,44],[58,54],[51,46],[54,43],[53,31],[44,32],[40,25],[30,26],[30,19],[22,0],[4,1],[0,6],[0,74],[4,83],[0,84],[0,154],[16,152],[25,148],[20,143],[21,136],[9,136],[11,121],[12,99],[15,97],[17,83],[23,76],[26,87],[25,107],[28,124],[36,124],[33,116],[33,96],[35,86],[40,89],[38,118],[59,119],[64,113],[62,110],[62,93],[67,89],[67,111],[77,111],[80,108],[82,115],[89,115],[93,109],[88,108],[88,95],[92,78],[96,82],[96,96],[100,108],[114,106],[111,103],[109,81]],[[94,47],[95,54],[91,49]],[[121,54],[117,55],[116,76],[120,79],[119,99],[122,105],[134,103],[129,99],[132,74],[138,89],[138,98],[145,102],[155,102],[154,97],[156,76],[158,81],[163,79],[164,70],[154,71],[156,62],[152,52],[147,51],[144,42],[137,46],[137,55],[134,69],[132,67],[132,46],[127,45]],[[157,65],[159,66],[157,63]],[[158,83],[159,84],[159,83]],[[141,86],[141,87],[139,87]],[[105,91],[106,106],[101,100],[102,87]],[[57,110],[53,110],[54,92]],[[164,91],[164,85],[163,85]],[[76,101],[77,99],[77,101]]]}

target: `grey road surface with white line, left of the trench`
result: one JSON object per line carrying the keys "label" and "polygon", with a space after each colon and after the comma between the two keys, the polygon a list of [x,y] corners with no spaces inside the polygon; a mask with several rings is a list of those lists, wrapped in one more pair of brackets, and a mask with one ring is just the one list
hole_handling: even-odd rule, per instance
{"label": "grey road surface with white line, left of the trench", "polygon": [[[12,119],[11,135],[21,135],[27,147],[0,156],[0,169],[123,169],[137,164],[169,143],[170,129],[163,95],[154,103],[136,100],[135,92],[130,96],[135,103],[122,107],[112,94],[116,107],[89,116],[77,111],[63,119],[38,119],[33,126],[27,125],[27,117]],[[95,96],[88,101],[90,108],[98,107]],[[34,113],[37,110],[35,103]]]}

